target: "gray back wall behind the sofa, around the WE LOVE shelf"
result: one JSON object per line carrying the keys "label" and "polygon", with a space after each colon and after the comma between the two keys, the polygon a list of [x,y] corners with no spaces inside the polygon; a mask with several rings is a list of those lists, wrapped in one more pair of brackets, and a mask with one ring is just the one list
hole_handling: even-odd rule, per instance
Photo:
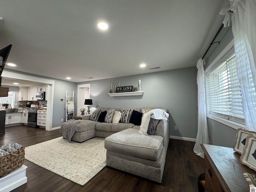
{"label": "gray back wall behind the sofa, around the WE LOVE shelf", "polygon": [[[196,64],[195,64],[196,65]],[[197,68],[182,68],[133,76],[118,77],[120,86],[138,86],[143,96],[110,97],[114,78],[81,82],[91,84],[91,111],[98,106],[111,108],[164,107],[170,113],[170,135],[196,138],[197,134]],[[76,90],[77,91],[77,90]],[[174,125],[178,130],[174,130]]]}

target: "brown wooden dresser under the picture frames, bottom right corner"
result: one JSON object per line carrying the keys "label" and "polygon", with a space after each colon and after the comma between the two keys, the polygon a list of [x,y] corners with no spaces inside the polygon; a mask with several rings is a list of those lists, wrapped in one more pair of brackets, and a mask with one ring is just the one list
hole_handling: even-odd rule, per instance
{"label": "brown wooden dresser under the picture frames, bottom right corner", "polygon": [[256,172],[240,162],[233,148],[201,144],[204,151],[206,192],[250,192],[243,172]]}

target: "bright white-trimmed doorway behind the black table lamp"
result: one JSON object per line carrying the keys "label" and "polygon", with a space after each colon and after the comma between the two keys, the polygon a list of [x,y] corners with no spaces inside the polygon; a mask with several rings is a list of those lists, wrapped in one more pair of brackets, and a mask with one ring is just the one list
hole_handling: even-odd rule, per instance
{"label": "bright white-trimmed doorway behind the black table lamp", "polygon": [[81,115],[80,108],[82,107],[86,108],[85,114],[87,113],[87,105],[84,105],[84,100],[90,99],[90,88],[91,88],[91,84],[78,85],[76,116]]}

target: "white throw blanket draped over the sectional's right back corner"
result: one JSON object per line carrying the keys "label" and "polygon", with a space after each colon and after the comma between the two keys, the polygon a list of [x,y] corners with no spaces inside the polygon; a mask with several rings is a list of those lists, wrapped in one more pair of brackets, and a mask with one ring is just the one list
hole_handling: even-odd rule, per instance
{"label": "white throw blanket draped over the sectional's right back corner", "polygon": [[149,112],[145,113],[142,117],[139,134],[148,135],[147,132],[148,132],[148,125],[149,125],[150,118],[153,118],[156,120],[164,119],[165,121],[168,121],[168,117],[169,117],[169,114],[162,109],[150,110]]}

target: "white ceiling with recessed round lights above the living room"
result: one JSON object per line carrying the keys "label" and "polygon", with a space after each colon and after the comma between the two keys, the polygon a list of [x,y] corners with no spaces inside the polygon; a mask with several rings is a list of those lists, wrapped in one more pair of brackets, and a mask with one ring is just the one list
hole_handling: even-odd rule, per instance
{"label": "white ceiling with recessed round lights above the living room", "polygon": [[[31,74],[85,82],[196,66],[228,0],[1,0],[0,48]],[[109,29],[102,32],[97,22]],[[145,62],[146,68],[139,68]],[[150,70],[149,68],[160,67]],[[92,77],[92,79],[89,79]]]}

